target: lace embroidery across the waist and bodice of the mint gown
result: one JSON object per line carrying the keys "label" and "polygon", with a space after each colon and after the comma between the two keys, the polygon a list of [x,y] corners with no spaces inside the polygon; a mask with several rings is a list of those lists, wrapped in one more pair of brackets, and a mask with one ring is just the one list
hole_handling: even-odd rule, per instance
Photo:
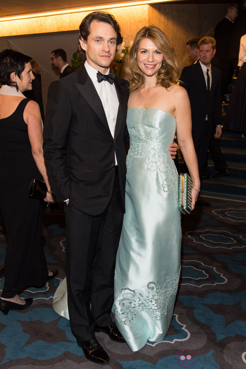
{"label": "lace embroidery across the waist and bodice of the mint gown", "polygon": [[[162,189],[164,192],[171,192],[174,190],[175,201],[178,206],[178,181],[177,176],[174,175],[173,168],[167,163],[167,154],[164,152],[157,152],[154,148],[154,142],[158,142],[161,137],[161,130],[154,127],[146,127],[143,123],[137,124],[134,128],[129,127],[130,135],[130,149],[126,158],[126,167],[131,169],[131,162],[133,158],[145,159],[146,165],[144,168],[148,172],[158,170],[163,173],[164,178]],[[139,137],[139,138],[137,138]]]}

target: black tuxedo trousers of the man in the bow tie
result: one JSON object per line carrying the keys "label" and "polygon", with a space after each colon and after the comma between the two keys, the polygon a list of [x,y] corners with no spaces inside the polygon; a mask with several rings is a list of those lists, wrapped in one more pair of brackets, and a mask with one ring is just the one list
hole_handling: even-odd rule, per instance
{"label": "black tuxedo trousers of the man in the bow tie", "polygon": [[102,214],[93,216],[69,201],[66,210],[66,277],[71,330],[81,341],[95,338],[95,326],[105,327],[114,300],[117,248],[123,223],[119,175]]}

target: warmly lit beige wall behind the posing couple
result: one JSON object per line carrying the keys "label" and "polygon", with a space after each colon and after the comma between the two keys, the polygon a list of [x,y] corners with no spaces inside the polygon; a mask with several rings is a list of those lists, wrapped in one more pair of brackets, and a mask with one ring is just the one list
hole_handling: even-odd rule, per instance
{"label": "warmly lit beige wall behind the posing couple", "polygon": [[[186,42],[193,37],[213,36],[215,25],[223,18],[227,6],[228,4],[166,3],[112,8],[107,11],[115,15],[119,22],[126,45],[134,39],[140,28],[150,24],[160,27],[170,38],[178,54],[181,71],[185,65],[191,63]],[[1,22],[0,31],[5,32],[5,36],[0,37],[0,50],[9,47],[17,49],[32,56],[40,64],[44,106],[49,84],[59,78],[59,71],[51,66],[50,52],[55,48],[65,49],[70,63],[72,54],[77,48],[79,24],[87,13],[44,17],[43,21],[42,18],[12,21],[8,24],[9,31],[7,27],[3,27],[4,22]],[[5,25],[7,26],[7,23]],[[30,34],[27,34],[28,32]],[[128,61],[129,56],[126,55],[126,67]],[[124,73],[122,77],[129,79],[129,75]]]}

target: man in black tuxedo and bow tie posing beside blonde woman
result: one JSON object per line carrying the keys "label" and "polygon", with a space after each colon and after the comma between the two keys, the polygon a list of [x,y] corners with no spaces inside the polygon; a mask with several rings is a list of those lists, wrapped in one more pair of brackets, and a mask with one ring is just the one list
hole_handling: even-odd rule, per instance
{"label": "man in black tuxedo and bow tie posing beside blonde woman", "polygon": [[[109,73],[119,24],[104,12],[79,27],[78,57],[85,64],[48,91],[44,156],[58,201],[65,201],[66,276],[70,324],[87,359],[110,359],[95,338],[125,342],[112,322],[116,252],[122,230],[129,83]],[[176,144],[172,144],[176,151]],[[174,152],[175,154],[175,152]],[[90,308],[91,303],[91,308]]]}

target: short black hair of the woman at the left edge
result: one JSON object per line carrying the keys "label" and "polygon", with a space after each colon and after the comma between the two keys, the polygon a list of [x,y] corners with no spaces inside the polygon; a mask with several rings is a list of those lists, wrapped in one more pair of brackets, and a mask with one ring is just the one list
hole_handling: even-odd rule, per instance
{"label": "short black hair of the woman at the left edge", "polygon": [[5,49],[0,52],[0,82],[2,85],[15,86],[15,83],[11,80],[11,73],[15,73],[20,80],[21,73],[25,69],[25,65],[33,59],[31,56],[27,56],[12,49]]}

